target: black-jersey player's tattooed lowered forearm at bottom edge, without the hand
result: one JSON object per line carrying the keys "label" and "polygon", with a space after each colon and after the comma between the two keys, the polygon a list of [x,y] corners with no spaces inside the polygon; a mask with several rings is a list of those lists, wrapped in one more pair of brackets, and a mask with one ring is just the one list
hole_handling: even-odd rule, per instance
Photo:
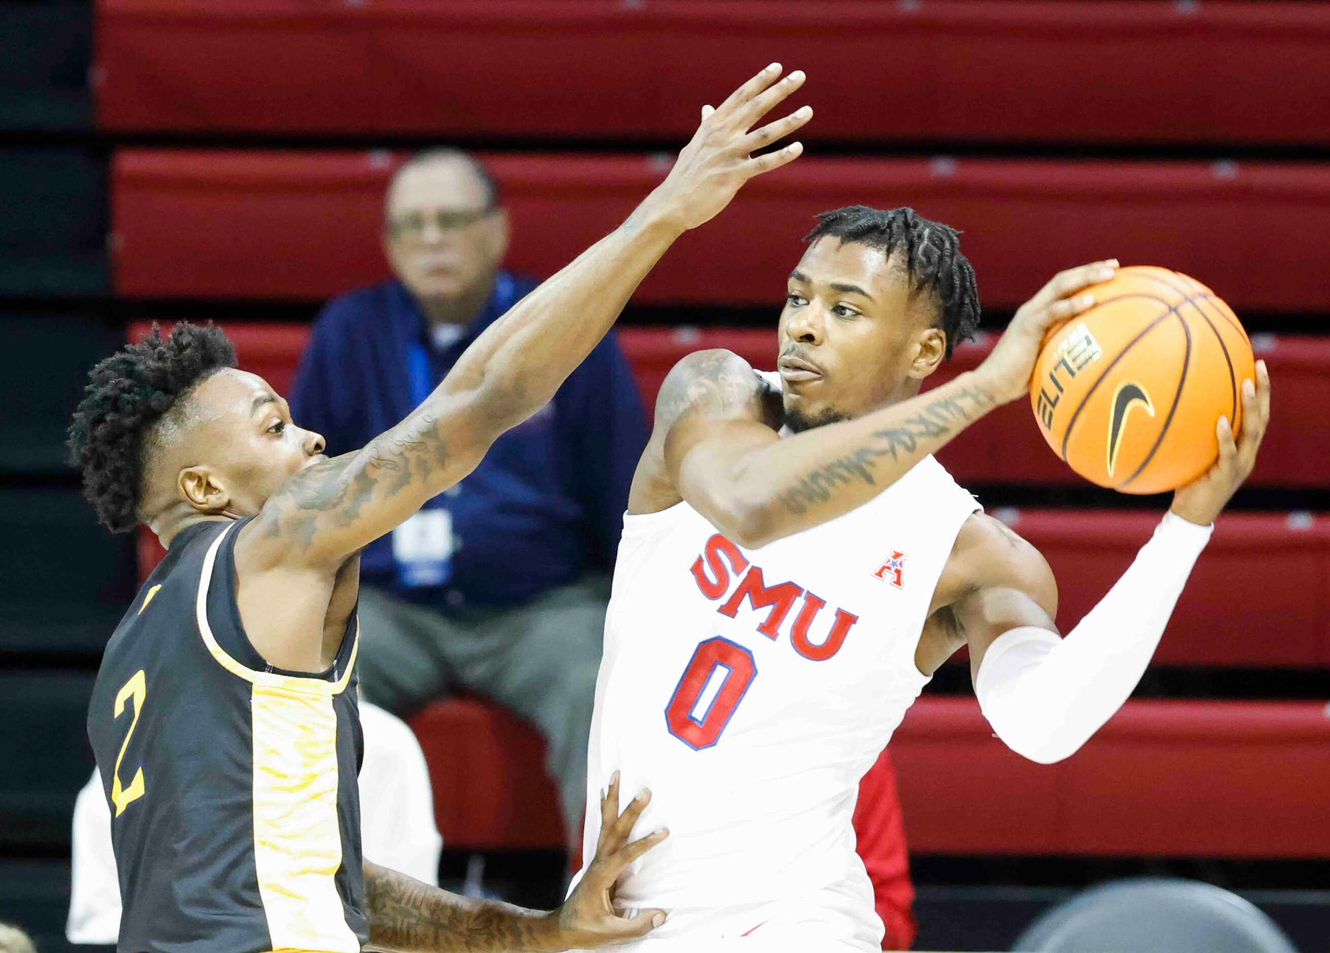
{"label": "black-jersey player's tattooed lowered forearm at bottom edge, without the hand", "polygon": [[551,914],[472,900],[375,864],[364,865],[367,949],[400,953],[551,949]]}

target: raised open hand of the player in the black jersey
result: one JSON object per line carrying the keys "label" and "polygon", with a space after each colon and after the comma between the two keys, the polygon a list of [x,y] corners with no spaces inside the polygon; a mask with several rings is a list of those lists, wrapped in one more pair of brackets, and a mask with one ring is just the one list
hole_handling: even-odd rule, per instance
{"label": "raised open hand of the player in the black jersey", "polygon": [[803,152],[801,142],[791,142],[783,149],[751,156],[813,118],[813,109],[802,106],[785,118],[753,129],[803,85],[805,76],[799,70],[777,82],[779,76],[781,64],[773,62],[720,106],[702,108],[702,122],[692,141],[648,199],[678,229],[696,229],[712,219],[750,178],[789,165]]}

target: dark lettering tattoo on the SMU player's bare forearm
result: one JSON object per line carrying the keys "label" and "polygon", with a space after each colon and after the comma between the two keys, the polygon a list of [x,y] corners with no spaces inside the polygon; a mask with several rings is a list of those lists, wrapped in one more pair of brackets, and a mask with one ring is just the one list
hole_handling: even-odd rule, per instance
{"label": "dark lettering tattoo on the SMU player's bare forearm", "polygon": [[920,440],[943,437],[975,419],[975,412],[995,404],[994,396],[982,387],[964,387],[950,396],[939,396],[924,404],[919,413],[907,417],[899,427],[874,431],[871,437],[854,452],[818,467],[799,477],[781,494],[785,508],[802,516],[809,506],[826,502],[838,486],[854,482],[876,486],[874,469],[883,457],[899,463],[900,453],[914,453]]}

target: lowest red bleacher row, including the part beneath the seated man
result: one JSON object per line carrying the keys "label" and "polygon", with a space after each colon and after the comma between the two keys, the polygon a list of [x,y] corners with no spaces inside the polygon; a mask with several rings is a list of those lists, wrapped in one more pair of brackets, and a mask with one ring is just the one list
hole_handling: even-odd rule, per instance
{"label": "lowest red bleacher row, including the part beneath the seated man", "polygon": [[[533,728],[473,698],[410,723],[444,844],[563,845]],[[1081,751],[1045,766],[994,738],[972,698],[926,696],[891,758],[915,853],[1330,857],[1319,702],[1128,702]]]}

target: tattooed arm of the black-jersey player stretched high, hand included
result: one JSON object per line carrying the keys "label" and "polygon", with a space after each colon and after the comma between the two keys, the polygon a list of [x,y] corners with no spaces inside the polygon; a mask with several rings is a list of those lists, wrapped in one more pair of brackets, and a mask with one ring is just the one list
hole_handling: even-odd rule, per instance
{"label": "tattooed arm of the black-jersey player stretched high, hand included", "polygon": [[[637,284],[685,230],[754,175],[793,162],[798,142],[751,153],[809,121],[762,118],[803,82],[771,64],[704,118],[665,181],[618,229],[495,322],[400,424],[354,453],[309,467],[242,537],[259,564],[335,564],[469,473],[504,431],[548,403],[604,338]],[[755,128],[754,128],[755,126]]]}

